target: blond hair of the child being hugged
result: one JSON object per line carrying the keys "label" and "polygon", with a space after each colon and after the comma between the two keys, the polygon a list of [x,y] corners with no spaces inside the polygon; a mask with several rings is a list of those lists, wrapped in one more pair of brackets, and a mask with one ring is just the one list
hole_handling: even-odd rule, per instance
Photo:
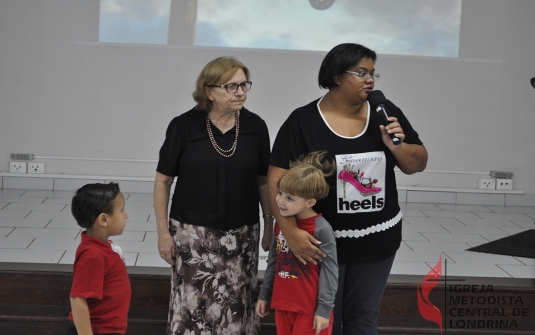
{"label": "blond hair of the child being hugged", "polygon": [[336,171],[334,160],[322,163],[326,153],[314,151],[291,162],[290,169],[277,182],[279,190],[304,199],[326,198],[329,195],[329,184],[325,177]]}

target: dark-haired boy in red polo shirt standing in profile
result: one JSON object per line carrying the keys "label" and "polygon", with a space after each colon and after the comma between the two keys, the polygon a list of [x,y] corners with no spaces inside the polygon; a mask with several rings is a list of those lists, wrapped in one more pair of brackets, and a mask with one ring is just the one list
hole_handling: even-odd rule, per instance
{"label": "dark-haired boy in red polo shirt standing in profile", "polygon": [[130,280],[121,249],[108,238],[121,235],[128,214],[117,183],[87,184],[72,199],[82,232],[76,250],[67,335],[126,334]]}

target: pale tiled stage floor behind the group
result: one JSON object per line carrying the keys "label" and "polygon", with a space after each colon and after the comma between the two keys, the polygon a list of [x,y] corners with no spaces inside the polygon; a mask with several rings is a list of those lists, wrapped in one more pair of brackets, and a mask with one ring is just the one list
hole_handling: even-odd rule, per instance
{"label": "pale tiled stage floor behind the group", "polygon": [[[72,264],[81,229],[70,214],[73,192],[0,189],[0,262]],[[166,267],[156,247],[152,194],[125,194],[126,229],[112,238],[129,266]],[[535,259],[465,251],[534,229],[535,207],[401,203],[403,242],[393,274],[425,275],[439,257],[448,275],[535,278]],[[260,269],[267,253],[261,253]]]}

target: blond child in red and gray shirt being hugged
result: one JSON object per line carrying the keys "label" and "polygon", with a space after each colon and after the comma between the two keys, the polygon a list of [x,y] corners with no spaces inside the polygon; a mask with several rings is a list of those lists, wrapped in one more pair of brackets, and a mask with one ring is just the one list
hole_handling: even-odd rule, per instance
{"label": "blond child in red and gray shirt being hugged", "polygon": [[327,255],[319,264],[303,265],[275,224],[256,312],[260,317],[268,315],[271,301],[278,335],[332,333],[338,287],[336,241],[331,225],[312,208],[329,194],[325,176],[336,170],[334,162],[322,163],[324,156],[325,152],[312,152],[291,163],[277,183],[276,201],[281,215],[295,215],[299,228],[321,241],[320,248]]}

